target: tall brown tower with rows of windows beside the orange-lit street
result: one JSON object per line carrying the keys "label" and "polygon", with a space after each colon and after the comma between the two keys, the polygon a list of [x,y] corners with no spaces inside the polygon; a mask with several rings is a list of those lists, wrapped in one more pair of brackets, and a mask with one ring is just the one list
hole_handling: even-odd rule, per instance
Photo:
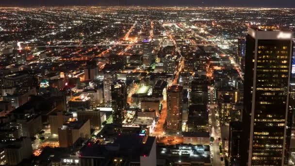
{"label": "tall brown tower with rows of windows beside the orange-lit street", "polygon": [[169,86],[167,90],[167,132],[181,132],[182,86]]}

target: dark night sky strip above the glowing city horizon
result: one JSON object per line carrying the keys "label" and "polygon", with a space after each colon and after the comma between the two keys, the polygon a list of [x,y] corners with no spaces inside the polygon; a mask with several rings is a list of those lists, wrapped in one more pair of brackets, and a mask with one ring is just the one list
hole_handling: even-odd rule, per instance
{"label": "dark night sky strip above the glowing city horizon", "polygon": [[1,6],[145,5],[295,7],[295,0],[0,0]]}

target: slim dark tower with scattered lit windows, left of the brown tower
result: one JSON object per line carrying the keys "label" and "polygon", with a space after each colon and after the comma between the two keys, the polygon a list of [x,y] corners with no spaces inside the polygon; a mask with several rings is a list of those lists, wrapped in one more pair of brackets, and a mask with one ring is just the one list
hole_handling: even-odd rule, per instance
{"label": "slim dark tower with scattered lit windows, left of the brown tower", "polygon": [[112,85],[112,107],[113,122],[122,124],[124,118],[123,111],[127,104],[127,88],[123,82],[116,82]]}

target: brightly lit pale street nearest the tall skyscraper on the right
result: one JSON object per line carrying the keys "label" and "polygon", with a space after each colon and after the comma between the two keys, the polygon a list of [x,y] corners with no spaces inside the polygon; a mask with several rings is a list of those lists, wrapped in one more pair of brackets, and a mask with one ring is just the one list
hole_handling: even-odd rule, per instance
{"label": "brightly lit pale street nearest the tall skyscraper on the right", "polygon": [[219,153],[219,141],[218,138],[221,138],[219,119],[216,118],[218,116],[218,112],[216,111],[215,97],[214,97],[214,88],[210,87],[210,114],[209,114],[209,124],[211,126],[211,136],[214,138],[214,141],[211,146],[211,156],[213,166],[225,166],[224,162],[221,161],[220,153]]}

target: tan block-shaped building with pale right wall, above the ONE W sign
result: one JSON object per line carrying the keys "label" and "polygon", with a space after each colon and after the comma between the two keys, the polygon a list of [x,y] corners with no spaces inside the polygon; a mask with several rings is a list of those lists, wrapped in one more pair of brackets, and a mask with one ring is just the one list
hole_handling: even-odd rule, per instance
{"label": "tan block-shaped building with pale right wall, above the ONE W sign", "polygon": [[68,121],[58,129],[59,146],[62,148],[73,146],[80,138],[89,139],[90,134],[89,120]]}

